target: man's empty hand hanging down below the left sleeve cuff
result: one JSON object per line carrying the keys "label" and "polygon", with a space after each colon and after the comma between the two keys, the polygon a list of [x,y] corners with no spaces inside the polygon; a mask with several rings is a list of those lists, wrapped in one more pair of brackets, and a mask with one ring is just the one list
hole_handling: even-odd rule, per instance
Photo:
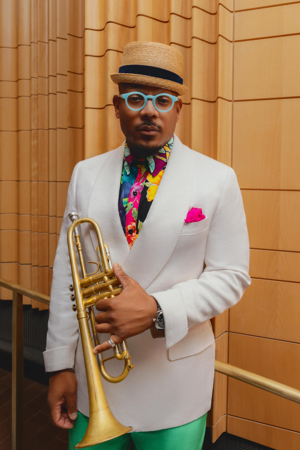
{"label": "man's empty hand hanging down below the left sleeve cuff", "polygon": [[[73,428],[77,417],[77,382],[73,372],[64,371],[49,378],[48,405],[52,422],[59,428]],[[67,412],[62,411],[67,403]]]}

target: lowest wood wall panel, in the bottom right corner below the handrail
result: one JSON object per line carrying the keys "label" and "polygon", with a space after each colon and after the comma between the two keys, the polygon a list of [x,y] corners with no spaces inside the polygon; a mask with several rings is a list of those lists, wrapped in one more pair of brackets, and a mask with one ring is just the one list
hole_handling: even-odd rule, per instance
{"label": "lowest wood wall panel, in the bottom right corner below the handrail", "polygon": [[241,436],[249,441],[255,439],[255,442],[277,450],[298,450],[300,447],[300,433],[230,415],[227,420],[228,433]]}

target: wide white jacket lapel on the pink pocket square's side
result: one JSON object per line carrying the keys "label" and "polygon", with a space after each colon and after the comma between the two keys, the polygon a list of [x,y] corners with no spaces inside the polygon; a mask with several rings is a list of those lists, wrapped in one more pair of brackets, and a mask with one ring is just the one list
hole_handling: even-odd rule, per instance
{"label": "wide white jacket lapel on the pink pocket square's side", "polygon": [[193,168],[188,165],[184,145],[175,136],[147,218],[123,263],[128,275],[144,289],[166,264],[179,239],[192,196],[191,176]]}

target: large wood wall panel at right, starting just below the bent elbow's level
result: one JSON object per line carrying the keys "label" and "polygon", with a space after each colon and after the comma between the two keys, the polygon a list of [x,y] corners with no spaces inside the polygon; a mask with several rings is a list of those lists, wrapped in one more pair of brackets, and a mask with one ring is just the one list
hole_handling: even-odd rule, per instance
{"label": "large wood wall panel at right, starting just below the bent elbow's level", "polygon": [[252,279],[230,309],[230,331],[300,343],[300,284]]}

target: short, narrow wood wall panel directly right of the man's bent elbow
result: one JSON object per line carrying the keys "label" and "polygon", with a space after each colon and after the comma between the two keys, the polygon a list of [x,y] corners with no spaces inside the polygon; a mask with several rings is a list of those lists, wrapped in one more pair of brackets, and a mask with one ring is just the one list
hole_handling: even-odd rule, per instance
{"label": "short, narrow wood wall panel directly right of the man's bent elbow", "polygon": [[299,283],[300,253],[250,250],[250,276]]}

